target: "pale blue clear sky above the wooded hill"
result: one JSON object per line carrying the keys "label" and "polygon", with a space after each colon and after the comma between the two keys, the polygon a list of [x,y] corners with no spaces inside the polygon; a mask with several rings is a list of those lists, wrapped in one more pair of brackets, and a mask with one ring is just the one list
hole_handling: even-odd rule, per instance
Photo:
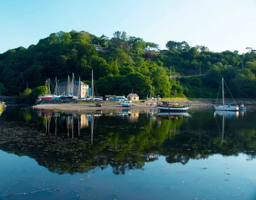
{"label": "pale blue clear sky above the wooded hill", "polygon": [[1,0],[0,53],[72,29],[246,53],[256,49],[255,14],[256,0]]}

